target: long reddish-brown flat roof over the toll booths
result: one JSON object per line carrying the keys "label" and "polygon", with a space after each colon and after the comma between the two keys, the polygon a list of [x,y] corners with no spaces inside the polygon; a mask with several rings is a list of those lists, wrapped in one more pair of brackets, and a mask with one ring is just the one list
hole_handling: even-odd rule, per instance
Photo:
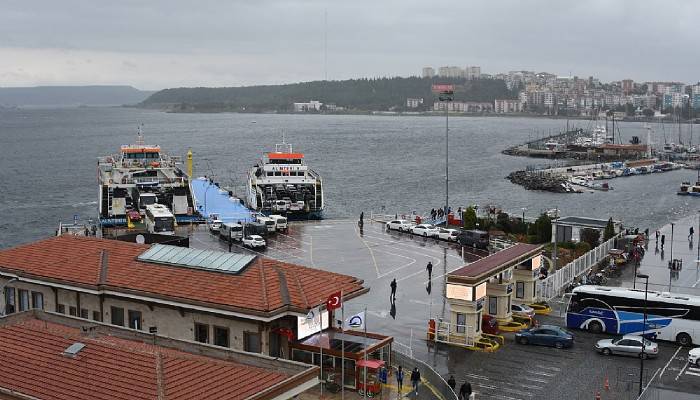
{"label": "long reddish-brown flat roof over the toll booths", "polygon": [[534,256],[541,248],[542,246],[534,244],[518,243],[469,265],[465,265],[456,271],[452,271],[448,274],[448,280],[451,277],[456,277],[461,281],[467,280],[476,283],[516,263],[525,261],[525,258]]}

